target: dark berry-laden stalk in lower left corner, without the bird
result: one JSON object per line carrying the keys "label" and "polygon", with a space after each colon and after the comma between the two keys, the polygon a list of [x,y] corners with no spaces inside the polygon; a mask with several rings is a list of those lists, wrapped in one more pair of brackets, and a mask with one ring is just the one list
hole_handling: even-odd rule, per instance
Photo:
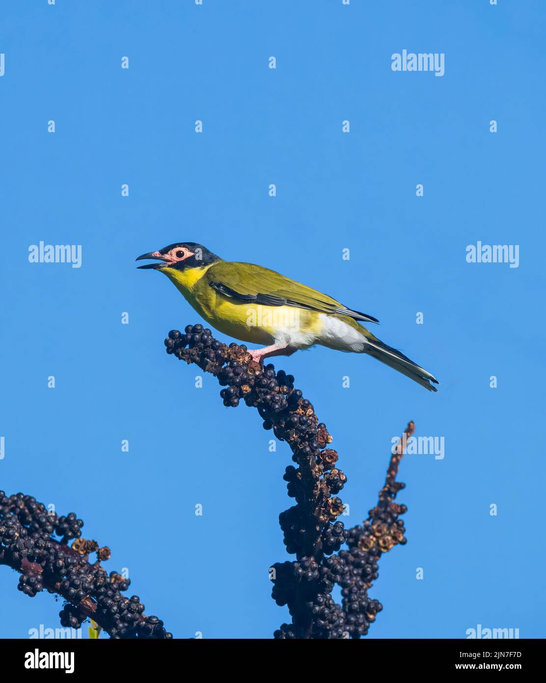
{"label": "dark berry-laden stalk in lower left corner, without the bird", "polygon": [[[110,557],[109,548],[81,538],[81,527],[73,512],[59,517],[31,496],[0,491],[0,564],[20,572],[18,589],[25,595],[33,598],[46,589],[67,601],[61,626],[80,628],[90,617],[112,638],[171,639],[158,617],[143,613],[139,596],[122,595],[130,580],[106,573],[100,561]],[[93,552],[98,561],[91,564]]]}

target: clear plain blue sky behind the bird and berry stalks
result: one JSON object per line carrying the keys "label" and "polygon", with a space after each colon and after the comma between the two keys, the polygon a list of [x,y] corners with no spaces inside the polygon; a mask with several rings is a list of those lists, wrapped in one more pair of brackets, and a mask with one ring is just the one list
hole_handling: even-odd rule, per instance
{"label": "clear plain blue sky behind the bird and berry stalks", "polygon": [[[3,3],[0,488],[74,510],[175,637],[287,620],[268,568],[291,505],[287,446],[164,353],[199,316],[134,258],[184,240],[371,313],[442,382],[320,347],[276,363],[334,435],[347,526],[408,419],[445,439],[403,460],[408,543],[380,562],[369,638],[545,637],[545,19],[529,0]],[[393,72],[403,49],[444,53],[444,76]],[[81,245],[81,268],[30,264],[40,240]],[[467,263],[478,240],[519,267]],[[59,625],[0,569],[0,637]]]}

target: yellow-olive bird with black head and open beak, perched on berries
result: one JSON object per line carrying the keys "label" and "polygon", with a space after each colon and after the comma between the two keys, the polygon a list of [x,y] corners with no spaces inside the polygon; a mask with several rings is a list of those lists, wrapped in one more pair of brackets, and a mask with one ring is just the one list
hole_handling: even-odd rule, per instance
{"label": "yellow-olive bird with black head and open beak, perched on berries", "polygon": [[249,349],[253,361],[290,356],[319,344],[365,353],[429,391],[438,380],[420,365],[375,337],[362,322],[378,323],[296,280],[250,263],[221,259],[197,242],[177,242],[137,257],[154,263],[186,301],[218,331],[262,348]]}

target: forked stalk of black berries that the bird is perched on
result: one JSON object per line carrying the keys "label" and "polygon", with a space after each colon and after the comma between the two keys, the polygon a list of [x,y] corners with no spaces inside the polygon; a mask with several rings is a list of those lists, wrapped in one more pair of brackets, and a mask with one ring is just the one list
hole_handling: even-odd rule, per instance
{"label": "forked stalk of black berries that the bird is perched on", "polygon": [[[367,591],[377,579],[377,561],[395,544],[405,543],[399,515],[405,507],[394,503],[403,484],[394,481],[397,463],[391,460],[379,503],[364,525],[345,529],[339,516],[344,505],[337,494],[347,477],[337,466],[332,436],[319,422],[311,402],[294,387],[294,378],[274,365],[253,361],[244,344],[222,344],[210,329],[188,325],[184,333],[171,330],[164,342],[167,353],[210,372],[224,388],[225,406],[243,400],[257,408],[263,428],[286,441],[294,465],[286,468],[289,497],[296,505],[279,516],[287,552],[295,561],[270,568],[272,597],[287,605],[291,624],[274,632],[278,639],[342,639],[366,635],[382,604]],[[348,544],[348,550],[341,550]],[[343,604],[332,589],[341,586]]]}

